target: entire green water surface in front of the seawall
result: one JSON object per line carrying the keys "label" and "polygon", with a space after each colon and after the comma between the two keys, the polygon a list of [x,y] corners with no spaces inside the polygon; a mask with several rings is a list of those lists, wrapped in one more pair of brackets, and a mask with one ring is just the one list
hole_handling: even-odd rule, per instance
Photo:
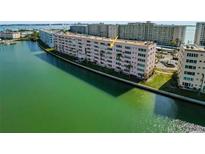
{"label": "entire green water surface in front of the seawall", "polygon": [[0,132],[189,132],[201,126],[203,106],[78,68],[33,42],[0,45]]}

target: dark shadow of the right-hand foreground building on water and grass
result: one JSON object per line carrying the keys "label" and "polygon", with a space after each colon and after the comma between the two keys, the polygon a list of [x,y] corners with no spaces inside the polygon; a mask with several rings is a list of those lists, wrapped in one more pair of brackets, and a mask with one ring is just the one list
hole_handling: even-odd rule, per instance
{"label": "dark shadow of the right-hand foreground building on water and grass", "polygon": [[[176,80],[169,80],[160,90],[165,90],[166,88],[170,88],[170,86],[173,87],[174,82]],[[173,87],[174,91],[176,94],[181,92],[181,90]],[[160,116],[205,126],[205,106],[202,105],[156,95],[154,112]]]}

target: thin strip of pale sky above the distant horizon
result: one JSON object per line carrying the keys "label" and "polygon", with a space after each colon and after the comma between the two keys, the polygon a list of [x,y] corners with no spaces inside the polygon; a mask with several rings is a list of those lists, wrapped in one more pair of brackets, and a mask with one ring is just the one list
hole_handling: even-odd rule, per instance
{"label": "thin strip of pale sky above the distant horizon", "polygon": [[[108,24],[126,24],[133,21],[0,21],[0,24],[53,24],[53,23],[99,23],[104,22]],[[145,22],[145,21],[136,21]],[[152,21],[157,24],[175,24],[175,25],[195,25],[196,21]]]}

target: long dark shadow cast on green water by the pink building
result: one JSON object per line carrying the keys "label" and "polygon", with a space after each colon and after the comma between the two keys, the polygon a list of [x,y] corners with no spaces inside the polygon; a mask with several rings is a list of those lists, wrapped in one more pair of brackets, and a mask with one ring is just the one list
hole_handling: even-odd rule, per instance
{"label": "long dark shadow cast on green water by the pink building", "polygon": [[120,81],[116,81],[114,79],[110,79],[108,77],[104,77],[94,72],[72,65],[48,53],[39,53],[35,54],[35,56],[115,97],[118,97],[134,88],[133,86]]}

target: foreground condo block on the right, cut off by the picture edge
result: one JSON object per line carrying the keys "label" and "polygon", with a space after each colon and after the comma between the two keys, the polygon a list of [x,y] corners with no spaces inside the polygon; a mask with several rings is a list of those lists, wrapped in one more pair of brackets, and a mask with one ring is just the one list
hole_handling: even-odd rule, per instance
{"label": "foreground condo block on the right, cut off by the picture edge", "polygon": [[182,45],[178,62],[178,85],[205,93],[205,48]]}

